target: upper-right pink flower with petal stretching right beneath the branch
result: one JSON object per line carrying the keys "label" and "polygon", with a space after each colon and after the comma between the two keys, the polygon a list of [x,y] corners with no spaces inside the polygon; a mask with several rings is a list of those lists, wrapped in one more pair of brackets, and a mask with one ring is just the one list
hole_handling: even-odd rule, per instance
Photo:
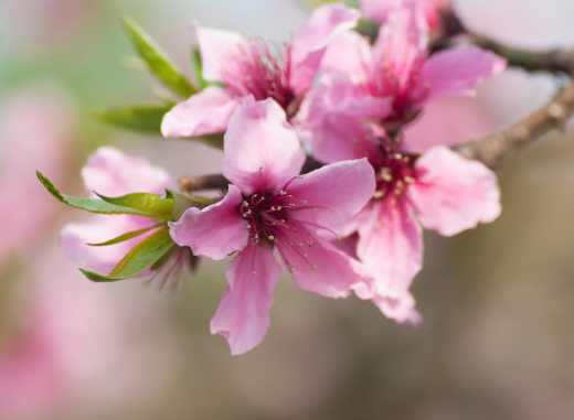
{"label": "upper-right pink flower with petal stretching right beneath the branch", "polygon": [[331,75],[306,96],[294,123],[313,157],[329,163],[339,159],[333,151],[352,147],[349,141],[366,137],[373,143],[436,99],[474,95],[476,84],[500,73],[506,61],[476,46],[428,56],[422,11],[408,2],[390,14],[372,47],[357,33],[340,34],[321,67]]}

